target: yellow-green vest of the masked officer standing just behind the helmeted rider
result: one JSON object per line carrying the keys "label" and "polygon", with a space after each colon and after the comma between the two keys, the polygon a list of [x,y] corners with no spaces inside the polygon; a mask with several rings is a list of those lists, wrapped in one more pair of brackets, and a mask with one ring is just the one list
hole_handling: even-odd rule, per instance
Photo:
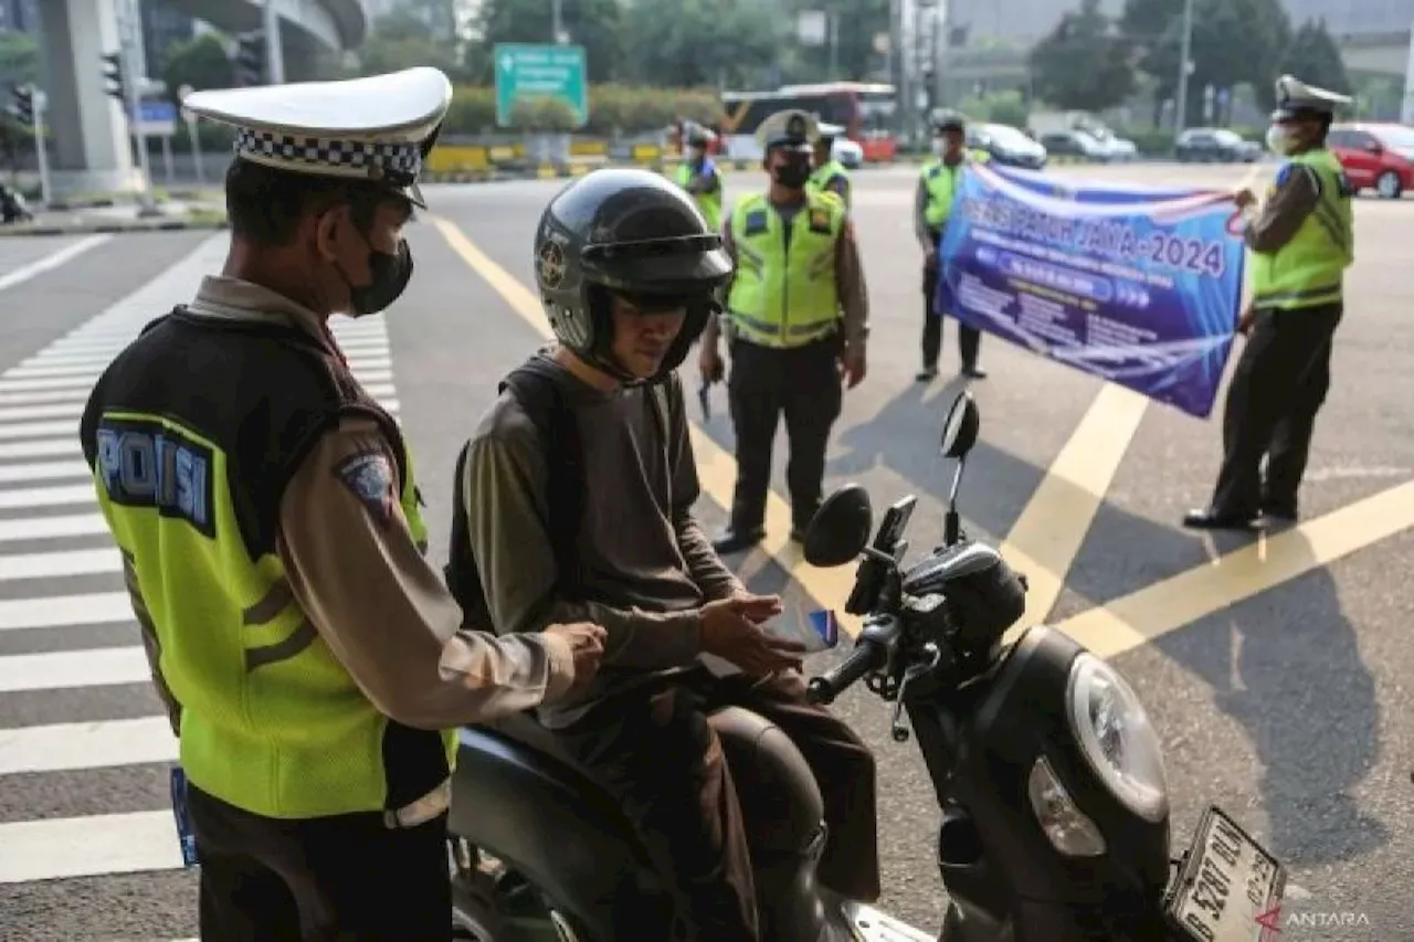
{"label": "yellow-green vest of the masked officer standing just behind the helmeted rider", "polygon": [[788,248],[781,214],[765,194],[732,208],[737,273],[727,310],[737,337],[761,347],[802,347],[836,331],[834,253],[844,215],[839,198],[807,191],[790,222]]}

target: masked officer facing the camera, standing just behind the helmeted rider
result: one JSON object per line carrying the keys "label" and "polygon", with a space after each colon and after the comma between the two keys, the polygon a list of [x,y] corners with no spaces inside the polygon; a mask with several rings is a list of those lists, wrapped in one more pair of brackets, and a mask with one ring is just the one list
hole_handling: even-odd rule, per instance
{"label": "masked officer facing the camera, standing just behind the helmeted rider", "polygon": [[820,506],[841,383],[853,389],[864,379],[864,272],[844,204],[806,187],[814,137],[816,122],[802,110],[762,122],[756,139],[771,188],[737,202],[723,228],[735,274],[700,352],[703,379],[717,382],[724,372],[717,338],[725,328],[737,491],[728,529],[715,542],[718,553],[765,539],[771,450],[782,414],[790,441],[790,536],[803,539]]}

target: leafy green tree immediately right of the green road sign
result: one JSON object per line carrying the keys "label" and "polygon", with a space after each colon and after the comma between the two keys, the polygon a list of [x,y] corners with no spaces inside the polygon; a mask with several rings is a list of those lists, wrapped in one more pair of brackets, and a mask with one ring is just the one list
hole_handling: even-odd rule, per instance
{"label": "leafy green tree immediately right of the green road sign", "polygon": [[768,66],[782,21],[752,0],[636,0],[624,27],[633,74],[646,85],[738,86]]}

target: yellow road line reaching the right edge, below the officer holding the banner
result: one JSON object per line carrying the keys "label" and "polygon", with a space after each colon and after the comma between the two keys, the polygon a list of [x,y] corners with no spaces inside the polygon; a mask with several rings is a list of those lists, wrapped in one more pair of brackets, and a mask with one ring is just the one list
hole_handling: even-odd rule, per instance
{"label": "yellow road line reaching the right edge, below the officer holding the banner", "polygon": [[1056,625],[1113,658],[1414,526],[1414,481],[1356,501]]}

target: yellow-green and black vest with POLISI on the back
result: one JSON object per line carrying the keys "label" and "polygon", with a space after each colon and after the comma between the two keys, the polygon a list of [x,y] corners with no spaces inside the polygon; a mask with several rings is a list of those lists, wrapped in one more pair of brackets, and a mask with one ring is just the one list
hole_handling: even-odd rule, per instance
{"label": "yellow-green and black vest with POLISI on the back", "polygon": [[[303,331],[160,318],[99,379],[81,423],[99,506],[181,704],[181,764],[236,808],[280,819],[390,815],[451,772],[455,731],[379,713],[296,601],[280,501],[344,416],[375,419],[426,546],[397,423]],[[389,629],[396,629],[390,625]]]}

